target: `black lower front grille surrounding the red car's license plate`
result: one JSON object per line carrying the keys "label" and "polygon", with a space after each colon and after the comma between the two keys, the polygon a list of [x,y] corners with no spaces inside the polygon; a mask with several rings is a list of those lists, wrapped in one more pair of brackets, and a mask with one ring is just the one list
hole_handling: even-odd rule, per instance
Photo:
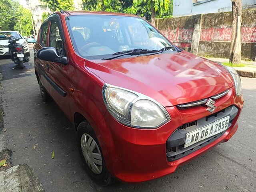
{"label": "black lower front grille surrounding the red car's license plate", "polygon": [[225,118],[230,116],[228,127],[231,126],[233,119],[236,117],[238,113],[238,108],[235,106],[229,106],[219,112],[206,116],[204,118],[198,119],[193,122],[188,122],[179,126],[172,135],[166,141],[166,157],[168,161],[175,161],[178,160],[204,146],[213,142],[214,140],[218,139],[225,131],[206,138],[200,142],[197,142],[189,147],[184,148],[184,143],[186,139],[186,134],[198,128],[204,127],[208,124],[215,122],[216,120]]}

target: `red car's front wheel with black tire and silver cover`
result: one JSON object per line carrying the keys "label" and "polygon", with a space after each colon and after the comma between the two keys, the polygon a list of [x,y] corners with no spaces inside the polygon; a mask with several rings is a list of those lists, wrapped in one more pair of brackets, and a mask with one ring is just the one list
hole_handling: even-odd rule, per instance
{"label": "red car's front wheel with black tire and silver cover", "polygon": [[[82,160],[84,161],[86,172],[93,180],[103,186],[112,184],[114,179],[106,168],[102,150],[92,126],[88,122],[83,121],[78,125],[77,130],[78,148]],[[83,142],[87,144],[82,144]],[[92,145],[95,147],[93,150],[90,150],[89,148],[91,148]],[[97,159],[94,158],[95,156]],[[96,163],[94,163],[95,160]],[[98,162],[100,163],[97,164]]]}

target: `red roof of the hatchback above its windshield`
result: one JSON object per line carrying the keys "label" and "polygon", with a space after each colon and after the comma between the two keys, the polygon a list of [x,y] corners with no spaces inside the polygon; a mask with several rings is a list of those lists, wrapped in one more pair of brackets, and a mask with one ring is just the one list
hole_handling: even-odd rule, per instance
{"label": "red roof of the hatchback above its windshield", "polygon": [[129,17],[138,17],[133,14],[125,14],[125,13],[116,13],[116,12],[104,12],[104,11],[60,11],[60,14],[67,15],[117,15],[117,16],[129,16]]}

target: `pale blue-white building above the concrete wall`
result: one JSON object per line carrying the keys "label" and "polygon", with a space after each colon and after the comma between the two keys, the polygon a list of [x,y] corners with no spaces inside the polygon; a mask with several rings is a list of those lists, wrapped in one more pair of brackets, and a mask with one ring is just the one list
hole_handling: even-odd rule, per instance
{"label": "pale blue-white building above the concrete wall", "polygon": [[[242,0],[243,7],[256,4],[256,0]],[[186,16],[232,10],[231,0],[173,0],[173,16]]]}

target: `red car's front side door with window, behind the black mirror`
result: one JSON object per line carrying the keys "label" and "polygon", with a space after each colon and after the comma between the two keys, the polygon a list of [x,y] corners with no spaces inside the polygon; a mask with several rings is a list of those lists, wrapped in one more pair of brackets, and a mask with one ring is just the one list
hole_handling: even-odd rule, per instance
{"label": "red car's front side door with window, behind the black mirror", "polygon": [[[54,47],[59,56],[67,56],[63,30],[60,18],[53,15],[50,18],[49,46]],[[46,61],[48,67],[48,77],[51,84],[51,95],[55,102],[60,106],[64,113],[70,117],[70,89],[71,73],[73,67],[71,64],[61,64],[57,62]]]}

